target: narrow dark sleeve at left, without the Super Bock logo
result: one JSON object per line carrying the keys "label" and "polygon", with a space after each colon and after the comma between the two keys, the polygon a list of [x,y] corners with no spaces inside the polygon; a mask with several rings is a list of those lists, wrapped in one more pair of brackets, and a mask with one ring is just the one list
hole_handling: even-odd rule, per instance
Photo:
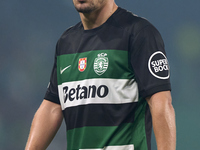
{"label": "narrow dark sleeve at left, without the Super Bock logo", "polygon": [[60,104],[59,101],[59,96],[58,96],[58,84],[57,84],[57,56],[55,54],[55,60],[54,60],[54,65],[53,69],[51,72],[51,77],[50,77],[50,82],[47,87],[47,91],[45,94],[44,99]]}

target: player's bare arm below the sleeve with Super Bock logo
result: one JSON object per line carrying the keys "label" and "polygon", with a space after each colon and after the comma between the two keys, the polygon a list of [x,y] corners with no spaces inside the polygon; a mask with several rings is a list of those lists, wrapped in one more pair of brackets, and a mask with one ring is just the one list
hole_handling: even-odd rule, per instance
{"label": "player's bare arm below the sleeve with Super Bock logo", "polygon": [[175,112],[170,91],[159,92],[147,98],[158,150],[176,149]]}

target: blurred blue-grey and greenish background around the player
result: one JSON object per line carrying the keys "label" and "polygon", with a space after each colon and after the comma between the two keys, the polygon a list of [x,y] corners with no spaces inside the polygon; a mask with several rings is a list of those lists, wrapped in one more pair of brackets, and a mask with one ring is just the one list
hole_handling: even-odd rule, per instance
{"label": "blurred blue-grey and greenish background around the player", "polygon": [[[116,0],[160,31],[171,67],[177,150],[200,147],[200,1]],[[79,21],[72,0],[0,1],[0,150],[22,150],[49,82],[55,45]],[[48,150],[66,149],[62,125]],[[152,150],[156,149],[152,138]]]}

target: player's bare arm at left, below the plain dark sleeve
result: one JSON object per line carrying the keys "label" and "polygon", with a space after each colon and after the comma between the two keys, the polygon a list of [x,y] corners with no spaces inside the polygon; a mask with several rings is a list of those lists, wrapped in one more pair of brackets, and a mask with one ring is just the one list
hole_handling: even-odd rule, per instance
{"label": "player's bare arm at left, below the plain dark sleeve", "polygon": [[25,150],[45,150],[63,120],[61,106],[44,100],[37,110]]}

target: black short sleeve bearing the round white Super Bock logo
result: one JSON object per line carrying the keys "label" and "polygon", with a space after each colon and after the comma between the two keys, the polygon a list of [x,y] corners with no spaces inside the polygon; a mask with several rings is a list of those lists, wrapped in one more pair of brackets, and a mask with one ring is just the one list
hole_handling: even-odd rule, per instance
{"label": "black short sleeve bearing the round white Super Bock logo", "polygon": [[169,63],[157,29],[151,24],[146,25],[132,35],[131,42],[131,65],[140,95],[146,98],[171,90]]}

